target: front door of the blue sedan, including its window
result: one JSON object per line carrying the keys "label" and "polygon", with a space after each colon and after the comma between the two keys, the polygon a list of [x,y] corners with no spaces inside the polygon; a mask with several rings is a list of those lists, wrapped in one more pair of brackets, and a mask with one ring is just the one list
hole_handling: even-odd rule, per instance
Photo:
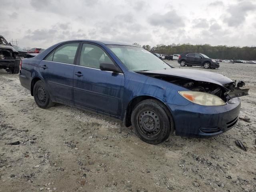
{"label": "front door of the blue sedan, including its window", "polygon": [[82,45],[79,65],[74,68],[74,102],[120,117],[124,74],[100,70],[103,62],[114,63],[101,47],[88,43]]}

